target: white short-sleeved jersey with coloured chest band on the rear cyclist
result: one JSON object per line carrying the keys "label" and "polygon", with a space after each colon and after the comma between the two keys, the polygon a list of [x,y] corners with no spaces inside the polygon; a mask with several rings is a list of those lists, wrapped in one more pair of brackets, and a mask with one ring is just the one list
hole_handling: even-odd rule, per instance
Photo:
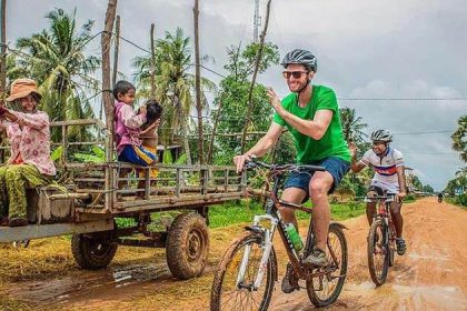
{"label": "white short-sleeved jersey with coloured chest band on the rear cyclist", "polygon": [[375,171],[374,182],[399,188],[396,168],[404,165],[403,152],[399,150],[389,147],[382,157],[377,156],[372,150],[368,150],[360,162]]}

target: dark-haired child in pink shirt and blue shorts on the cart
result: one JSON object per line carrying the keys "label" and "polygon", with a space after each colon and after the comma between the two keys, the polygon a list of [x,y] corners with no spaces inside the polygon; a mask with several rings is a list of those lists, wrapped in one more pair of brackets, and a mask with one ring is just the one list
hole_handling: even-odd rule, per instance
{"label": "dark-haired child in pink shirt and blue shorts on the cart", "polygon": [[[136,88],[128,81],[118,81],[113,88],[115,106],[115,142],[118,160],[140,164],[151,165],[156,162],[156,154],[141,146],[140,127],[146,122],[146,106],[135,112]],[[120,171],[120,178],[128,174],[128,170]],[[138,189],[143,187],[143,181],[139,182]],[[121,188],[121,183],[119,188]]]}

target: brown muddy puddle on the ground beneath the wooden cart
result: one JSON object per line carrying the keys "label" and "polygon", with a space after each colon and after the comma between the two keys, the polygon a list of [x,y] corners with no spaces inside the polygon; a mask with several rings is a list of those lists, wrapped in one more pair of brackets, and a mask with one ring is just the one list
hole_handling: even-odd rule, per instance
{"label": "brown muddy puddle on the ground beneath the wooden cart", "polygon": [[9,295],[34,304],[61,303],[80,295],[165,279],[169,275],[166,265],[157,264],[117,267],[101,271],[82,270],[77,275],[62,279],[10,284]]}

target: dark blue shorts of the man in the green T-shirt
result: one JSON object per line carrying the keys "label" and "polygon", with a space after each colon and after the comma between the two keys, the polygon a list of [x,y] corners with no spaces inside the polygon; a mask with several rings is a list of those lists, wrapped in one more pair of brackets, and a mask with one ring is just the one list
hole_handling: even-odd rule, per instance
{"label": "dark blue shorts of the man in the green T-shirt", "polygon": [[[350,164],[337,157],[325,158],[320,161],[312,163],[307,163],[309,165],[319,165],[324,167],[325,170],[332,175],[334,182],[328,193],[332,193],[336,188],[339,185],[339,182],[342,180],[344,175],[348,172]],[[292,172],[287,179],[284,189],[287,188],[299,188],[305,190],[307,193],[306,200],[309,195],[309,184],[311,177],[315,172]]]}

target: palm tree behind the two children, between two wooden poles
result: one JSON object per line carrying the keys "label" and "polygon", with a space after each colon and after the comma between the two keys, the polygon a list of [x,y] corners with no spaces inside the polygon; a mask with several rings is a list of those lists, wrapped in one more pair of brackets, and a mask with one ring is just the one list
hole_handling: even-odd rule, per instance
{"label": "palm tree behind the two children, between two wooden poles", "polygon": [[[135,76],[139,97],[150,97],[150,58],[148,54],[133,60],[133,66],[138,68]],[[203,60],[207,58],[203,57]],[[177,28],[175,34],[167,31],[165,39],[156,42],[156,98],[163,106],[165,124],[170,124],[161,129],[161,141],[169,144],[181,136],[187,161],[191,163],[188,132],[195,126],[189,118],[195,107],[195,76],[189,72],[192,67],[190,38],[185,37],[181,28]],[[201,86],[202,106],[206,107],[203,91],[213,91],[216,87],[206,78],[201,78]]]}

